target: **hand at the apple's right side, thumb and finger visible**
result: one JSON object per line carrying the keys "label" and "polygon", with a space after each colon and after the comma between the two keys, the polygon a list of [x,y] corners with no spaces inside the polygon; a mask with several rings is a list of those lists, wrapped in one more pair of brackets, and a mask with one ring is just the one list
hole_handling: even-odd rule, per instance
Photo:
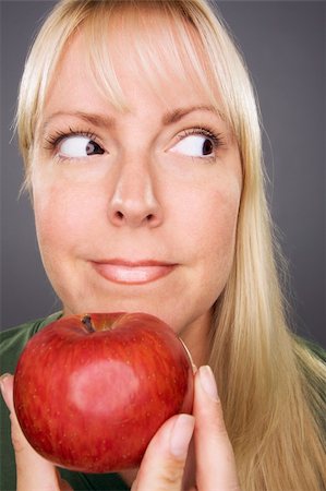
{"label": "hand at the apple's right side, thumb and finger visible", "polygon": [[[234,455],[209,367],[195,374],[194,416],[169,419],[149,443],[132,491],[240,491]],[[194,460],[188,469],[194,431]],[[191,452],[190,452],[191,454]]]}

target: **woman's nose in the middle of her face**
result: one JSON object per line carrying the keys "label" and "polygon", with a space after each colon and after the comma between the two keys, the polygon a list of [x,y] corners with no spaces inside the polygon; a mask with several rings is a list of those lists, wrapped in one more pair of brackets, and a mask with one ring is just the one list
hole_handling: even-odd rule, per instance
{"label": "woman's nose in the middle of her face", "polygon": [[135,159],[120,165],[109,202],[109,218],[114,226],[154,228],[161,224],[162,209],[148,167]]}

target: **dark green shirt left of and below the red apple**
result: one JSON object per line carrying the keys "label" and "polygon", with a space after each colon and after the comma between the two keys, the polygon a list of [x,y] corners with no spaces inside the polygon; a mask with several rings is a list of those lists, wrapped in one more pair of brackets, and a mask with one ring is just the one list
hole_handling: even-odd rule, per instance
{"label": "dark green shirt left of and below the red apple", "polygon": [[[29,322],[19,327],[4,331],[0,334],[0,360],[1,374],[14,373],[19,357],[27,340],[39,330],[50,322],[59,319],[61,312],[52,314],[36,322]],[[1,447],[0,447],[0,490],[16,490],[15,459],[11,443],[11,428],[8,408],[0,397],[0,424],[1,424]],[[81,474],[65,469],[59,469],[74,491],[97,490],[97,491],[126,491],[130,488],[118,474]]]}

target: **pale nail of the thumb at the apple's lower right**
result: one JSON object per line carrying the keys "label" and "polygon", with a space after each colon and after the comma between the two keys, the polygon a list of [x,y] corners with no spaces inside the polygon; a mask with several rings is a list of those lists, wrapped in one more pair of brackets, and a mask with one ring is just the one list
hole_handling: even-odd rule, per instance
{"label": "pale nail of the thumb at the apple's lower right", "polygon": [[193,416],[178,416],[170,435],[170,452],[174,457],[185,459],[194,426],[195,419]]}

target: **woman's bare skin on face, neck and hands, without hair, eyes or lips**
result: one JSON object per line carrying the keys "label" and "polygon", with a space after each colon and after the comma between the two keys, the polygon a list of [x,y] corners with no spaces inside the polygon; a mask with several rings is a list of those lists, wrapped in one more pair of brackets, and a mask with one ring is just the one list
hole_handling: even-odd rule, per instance
{"label": "woman's bare skin on face, neck and hands, without hair, eyes or lips", "polygon": [[[157,315],[182,336],[200,367],[206,362],[212,306],[233,261],[242,185],[239,149],[228,124],[207,109],[209,99],[191,76],[185,85],[162,61],[168,82],[160,81],[154,93],[133,69],[129,43],[119,29],[110,34],[110,50],[128,111],[118,111],[97,92],[85,70],[82,33],[67,49],[48,93],[32,172],[41,258],[64,314],[144,311]],[[188,70],[191,75],[191,65]],[[180,109],[188,112],[178,121],[162,122]],[[96,124],[85,122],[80,112],[101,118]],[[186,135],[185,131],[207,125],[220,135],[222,145],[209,157],[198,156],[197,148],[207,136]],[[105,152],[72,158],[81,141],[71,136],[49,148],[52,134],[69,128],[95,133]],[[156,260],[173,267],[155,280],[117,284],[94,265],[117,258]],[[45,483],[53,490],[69,489],[22,435],[12,405],[12,378],[4,378],[1,385],[12,414],[19,491],[35,491],[40,482],[43,489]],[[189,452],[193,434],[194,446]],[[135,471],[123,477],[132,482]],[[160,428],[133,491],[195,486],[200,491],[239,489],[207,367],[195,374],[194,415],[173,417]]]}

